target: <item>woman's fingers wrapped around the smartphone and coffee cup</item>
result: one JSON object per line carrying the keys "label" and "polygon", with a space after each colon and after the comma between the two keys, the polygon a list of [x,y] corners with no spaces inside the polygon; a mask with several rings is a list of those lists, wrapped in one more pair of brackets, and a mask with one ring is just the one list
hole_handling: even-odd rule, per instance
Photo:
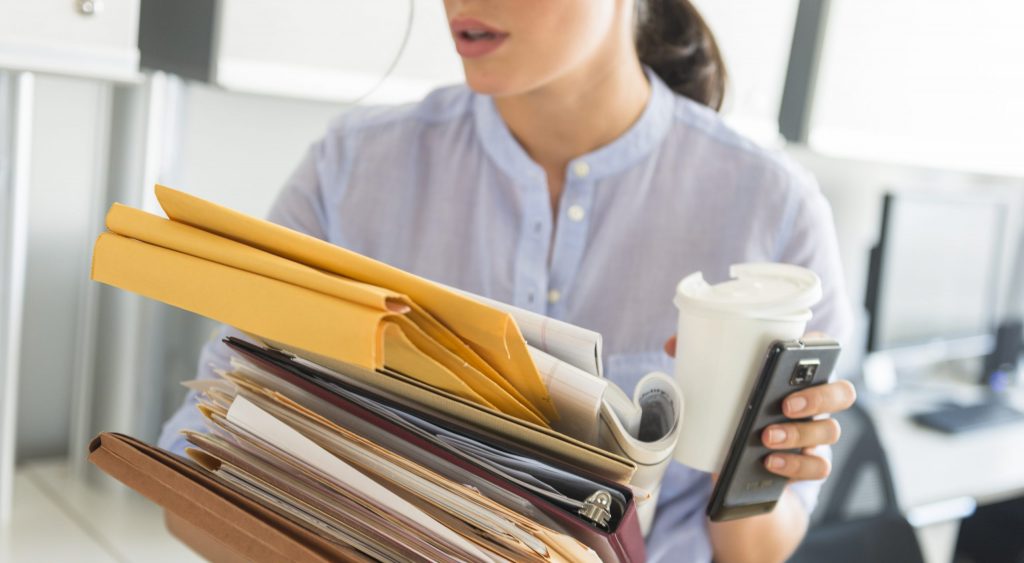
{"label": "woman's fingers wrapped around the smartphone and coffee cup", "polygon": [[[820,336],[820,335],[815,335]],[[665,351],[675,357],[676,337],[665,343]],[[857,398],[848,381],[816,385],[792,393],[782,402],[782,414],[790,419],[815,420],[774,424],[765,428],[761,441],[771,449],[801,448],[800,453],[772,453],[765,459],[765,468],[794,480],[824,479],[831,471],[824,458],[814,454],[819,445],[836,443],[840,436],[839,423],[828,415],[849,408]]]}

